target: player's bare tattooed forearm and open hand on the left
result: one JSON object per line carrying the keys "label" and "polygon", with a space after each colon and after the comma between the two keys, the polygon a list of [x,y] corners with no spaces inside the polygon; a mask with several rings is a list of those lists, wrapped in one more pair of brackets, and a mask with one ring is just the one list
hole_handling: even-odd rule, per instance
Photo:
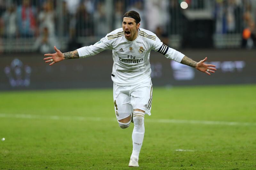
{"label": "player's bare tattooed forearm and open hand on the left", "polygon": [[62,53],[59,49],[56,48],[56,46],[54,46],[54,49],[55,49],[56,53],[44,55],[44,56],[50,56],[50,57],[44,58],[44,60],[46,60],[45,63],[52,62],[49,65],[58,63],[65,59],[79,58],[77,50],[72,51],[72,52]]}

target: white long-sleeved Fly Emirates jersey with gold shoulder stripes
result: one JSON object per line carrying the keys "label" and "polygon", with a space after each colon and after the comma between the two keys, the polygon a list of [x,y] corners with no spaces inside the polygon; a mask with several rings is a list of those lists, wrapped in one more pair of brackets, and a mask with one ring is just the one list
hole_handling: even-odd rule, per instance
{"label": "white long-sleeved Fly Emirates jersey with gold shoulder stripes", "polygon": [[119,28],[94,45],[79,48],[77,51],[79,57],[83,58],[96,55],[105,49],[112,49],[114,64],[111,77],[114,83],[121,86],[150,82],[149,55],[152,49],[179,63],[184,57],[182,53],[164,45],[156,34],[141,28],[134,41],[128,41],[124,37],[123,28]]}

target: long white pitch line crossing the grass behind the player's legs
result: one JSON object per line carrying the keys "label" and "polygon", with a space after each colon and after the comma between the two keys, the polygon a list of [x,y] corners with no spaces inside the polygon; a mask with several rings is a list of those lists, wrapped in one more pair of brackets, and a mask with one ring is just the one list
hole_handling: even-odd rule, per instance
{"label": "long white pitch line crossing the grass behind the player's legs", "polygon": [[[50,120],[77,120],[77,121],[117,121],[116,118],[103,117],[82,117],[82,116],[57,116],[57,115],[27,115],[27,114],[1,114],[3,118],[22,118],[22,119],[50,119]],[[206,124],[206,125],[228,125],[228,126],[256,126],[252,122],[220,122],[220,121],[199,121],[199,120],[177,120],[177,119],[146,119],[150,123],[184,123],[184,124]]]}

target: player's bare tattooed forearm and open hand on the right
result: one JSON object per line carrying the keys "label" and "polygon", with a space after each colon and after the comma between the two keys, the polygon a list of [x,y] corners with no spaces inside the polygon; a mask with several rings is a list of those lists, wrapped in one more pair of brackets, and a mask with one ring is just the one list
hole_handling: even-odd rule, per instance
{"label": "player's bare tattooed forearm and open hand on the right", "polygon": [[181,60],[181,64],[185,64],[185,65],[188,65],[190,67],[194,67],[196,68],[197,70],[199,71],[202,71],[202,72],[205,72],[206,74],[208,75],[211,75],[211,73],[215,73],[215,68],[212,68],[212,67],[216,67],[215,65],[212,65],[212,64],[206,64],[204,63],[205,61],[207,60],[207,57],[204,58],[204,60],[201,60],[200,62],[196,62],[190,58],[188,58],[186,55],[182,58]]}

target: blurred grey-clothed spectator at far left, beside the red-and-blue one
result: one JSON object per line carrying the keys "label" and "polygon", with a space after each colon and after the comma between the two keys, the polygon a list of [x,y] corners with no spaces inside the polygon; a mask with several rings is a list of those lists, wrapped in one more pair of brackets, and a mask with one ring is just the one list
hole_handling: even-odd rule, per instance
{"label": "blurred grey-clothed spectator at far left, beside the red-and-blue one", "polygon": [[17,35],[17,13],[16,7],[12,4],[4,12],[4,37],[14,38]]}

